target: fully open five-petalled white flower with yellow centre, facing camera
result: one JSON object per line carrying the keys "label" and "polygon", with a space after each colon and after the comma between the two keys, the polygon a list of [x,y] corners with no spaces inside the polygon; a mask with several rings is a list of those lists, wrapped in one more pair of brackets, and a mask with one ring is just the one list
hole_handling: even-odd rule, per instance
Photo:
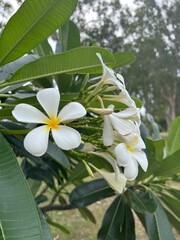
{"label": "fully open five-petalled white flower with yellow centre, facing camera", "polygon": [[74,149],[80,145],[81,136],[78,131],[61,123],[71,122],[86,115],[85,108],[78,102],[67,104],[58,114],[60,93],[55,88],[40,90],[37,100],[47,116],[29,104],[18,104],[12,111],[20,122],[43,124],[30,131],[24,139],[24,147],[35,156],[42,156],[48,147],[49,133],[58,147],[64,150]]}

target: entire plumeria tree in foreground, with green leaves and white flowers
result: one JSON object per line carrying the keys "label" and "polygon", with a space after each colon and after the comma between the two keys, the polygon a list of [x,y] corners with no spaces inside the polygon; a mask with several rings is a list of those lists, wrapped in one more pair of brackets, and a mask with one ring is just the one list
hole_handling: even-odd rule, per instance
{"label": "entire plumeria tree in foreground, with green leaves and white flowers", "polygon": [[115,71],[135,56],[81,46],[76,4],[25,0],[1,33],[0,239],[53,239],[48,224],[68,230],[49,211],[95,221],[87,206],[110,196],[98,239],[135,239],[133,212],[149,239],[175,239],[180,119],[153,140]]}

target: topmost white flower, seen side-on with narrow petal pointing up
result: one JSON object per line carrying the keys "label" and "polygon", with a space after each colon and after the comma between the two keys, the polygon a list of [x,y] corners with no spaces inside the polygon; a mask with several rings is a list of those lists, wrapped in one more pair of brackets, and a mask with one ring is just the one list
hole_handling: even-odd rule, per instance
{"label": "topmost white flower, seen side-on with narrow petal pointing up", "polygon": [[103,75],[101,81],[104,81],[105,84],[115,85],[119,90],[124,90],[125,84],[123,76],[120,74],[115,75],[114,71],[104,64],[101,54],[96,53],[96,55],[98,56],[103,67]]}

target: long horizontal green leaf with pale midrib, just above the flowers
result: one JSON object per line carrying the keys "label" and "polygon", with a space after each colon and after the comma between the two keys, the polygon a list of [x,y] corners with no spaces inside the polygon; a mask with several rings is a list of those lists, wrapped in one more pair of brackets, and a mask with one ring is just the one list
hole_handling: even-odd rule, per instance
{"label": "long horizontal green leaf with pale midrib, just above the flowers", "polygon": [[1,82],[1,87],[20,82],[32,81],[42,77],[61,73],[100,73],[102,66],[96,53],[103,56],[105,64],[114,65],[113,55],[106,49],[99,47],[74,48],[64,53],[44,56],[26,64],[19,69],[11,79]]}

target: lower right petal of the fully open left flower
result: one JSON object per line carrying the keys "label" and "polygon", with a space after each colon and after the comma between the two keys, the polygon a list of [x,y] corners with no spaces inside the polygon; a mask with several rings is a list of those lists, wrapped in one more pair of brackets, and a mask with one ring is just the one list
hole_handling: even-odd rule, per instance
{"label": "lower right petal of the fully open left flower", "polygon": [[58,129],[52,129],[55,143],[63,150],[77,148],[81,143],[81,136],[73,128],[60,125]]}

